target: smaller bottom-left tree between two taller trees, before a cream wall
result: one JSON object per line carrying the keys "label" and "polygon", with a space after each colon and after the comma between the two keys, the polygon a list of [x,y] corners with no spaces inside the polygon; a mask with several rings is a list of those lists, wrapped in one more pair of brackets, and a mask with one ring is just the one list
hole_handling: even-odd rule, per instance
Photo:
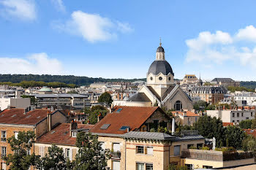
{"label": "smaller bottom-left tree between two taller trees, before a cream wall", "polygon": [[48,154],[45,157],[37,161],[37,169],[48,169],[48,170],[66,170],[67,160],[64,156],[63,149],[53,144],[48,147]]}

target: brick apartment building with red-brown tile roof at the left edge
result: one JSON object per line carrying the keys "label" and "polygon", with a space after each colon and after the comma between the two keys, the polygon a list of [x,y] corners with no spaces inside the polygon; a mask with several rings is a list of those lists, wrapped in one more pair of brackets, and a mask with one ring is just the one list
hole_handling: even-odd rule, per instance
{"label": "brick apartment building with red-brown tile roof at the left edge", "polygon": [[[59,110],[50,112],[47,109],[34,109],[26,112],[26,109],[5,109],[0,112],[1,158],[12,152],[7,139],[14,135],[18,136],[19,131],[34,131],[38,138],[50,131],[54,125],[65,122],[66,116]],[[0,169],[8,169],[1,158]]]}

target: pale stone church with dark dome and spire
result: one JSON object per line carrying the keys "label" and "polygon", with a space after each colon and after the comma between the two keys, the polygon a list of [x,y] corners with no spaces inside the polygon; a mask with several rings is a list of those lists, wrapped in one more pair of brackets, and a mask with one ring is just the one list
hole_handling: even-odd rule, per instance
{"label": "pale stone church with dark dome and spire", "polygon": [[[192,110],[192,100],[174,83],[173,69],[165,60],[165,50],[160,42],[157,48],[156,60],[151,63],[146,74],[146,85],[143,85],[135,95],[126,101],[114,99],[113,105],[152,107],[159,106],[166,109]],[[120,100],[120,99],[119,99]]]}

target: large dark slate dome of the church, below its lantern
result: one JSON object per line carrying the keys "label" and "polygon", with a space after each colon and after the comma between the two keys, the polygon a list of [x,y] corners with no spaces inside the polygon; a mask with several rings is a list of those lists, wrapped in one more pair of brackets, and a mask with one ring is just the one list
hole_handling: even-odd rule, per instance
{"label": "large dark slate dome of the church, below its lantern", "polygon": [[173,69],[170,66],[170,63],[168,63],[167,61],[163,60],[163,61],[154,61],[153,63],[151,63],[151,66],[148,69],[148,74],[152,73],[154,75],[157,75],[159,73],[162,73],[164,75],[167,74],[173,74]]}

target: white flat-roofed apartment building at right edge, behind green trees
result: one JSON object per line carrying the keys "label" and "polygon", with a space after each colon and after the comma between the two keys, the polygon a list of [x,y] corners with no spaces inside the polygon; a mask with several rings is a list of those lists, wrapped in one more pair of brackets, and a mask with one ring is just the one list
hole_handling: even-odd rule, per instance
{"label": "white flat-roofed apartment building at right edge, behind green trees", "polygon": [[255,109],[219,109],[206,110],[207,115],[217,117],[224,123],[239,124],[242,120],[252,120],[255,118]]}

